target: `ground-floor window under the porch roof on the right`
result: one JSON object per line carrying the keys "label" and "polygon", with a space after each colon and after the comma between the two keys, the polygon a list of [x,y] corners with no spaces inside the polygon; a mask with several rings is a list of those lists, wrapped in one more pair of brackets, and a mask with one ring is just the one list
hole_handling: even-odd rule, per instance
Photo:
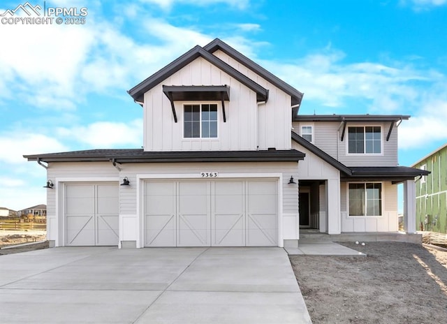
{"label": "ground-floor window under the porch roof on the right", "polygon": [[349,184],[349,216],[381,216],[382,184]]}

